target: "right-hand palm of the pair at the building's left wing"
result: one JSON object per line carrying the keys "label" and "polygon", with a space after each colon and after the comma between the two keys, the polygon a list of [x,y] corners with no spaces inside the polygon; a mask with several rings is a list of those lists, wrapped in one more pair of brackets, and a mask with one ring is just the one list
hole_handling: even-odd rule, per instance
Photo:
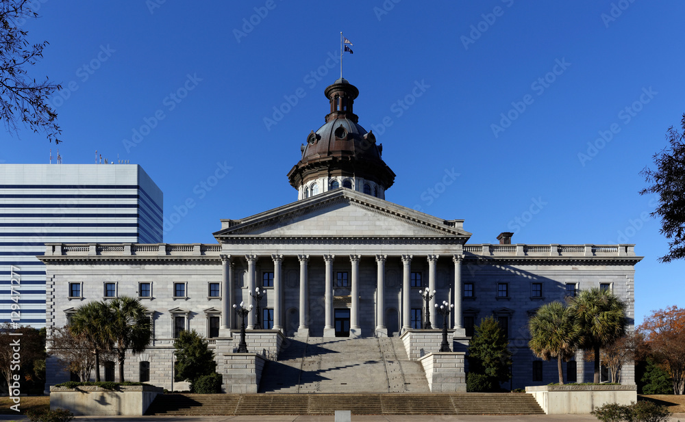
{"label": "right-hand palm of the pair at the building's left wing", "polygon": [[115,298],[108,303],[110,311],[109,330],[116,341],[116,354],[119,358],[119,382],[124,382],[124,362],[126,350],[140,353],[150,344],[152,330],[148,311],[140,301],[128,296]]}

